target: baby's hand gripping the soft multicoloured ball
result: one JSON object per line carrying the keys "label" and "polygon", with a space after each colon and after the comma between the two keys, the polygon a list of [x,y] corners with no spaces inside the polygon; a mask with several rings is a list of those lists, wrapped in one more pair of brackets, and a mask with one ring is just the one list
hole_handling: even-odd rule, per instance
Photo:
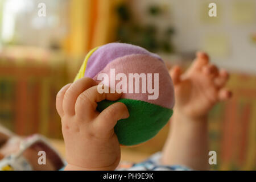
{"label": "baby's hand gripping the soft multicoloured ball", "polygon": [[116,102],[101,113],[97,102],[115,101],[117,93],[97,91],[91,78],[65,85],[56,97],[65,142],[67,170],[112,170],[120,160],[120,147],[114,126],[129,117],[125,104]]}

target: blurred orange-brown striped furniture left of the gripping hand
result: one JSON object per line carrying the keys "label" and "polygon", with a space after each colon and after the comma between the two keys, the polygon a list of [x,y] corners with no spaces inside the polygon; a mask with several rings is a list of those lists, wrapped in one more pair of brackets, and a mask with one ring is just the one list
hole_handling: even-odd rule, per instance
{"label": "blurred orange-brown striped furniture left of the gripping hand", "polygon": [[67,82],[65,57],[33,47],[0,53],[0,122],[19,135],[61,138],[56,93]]}

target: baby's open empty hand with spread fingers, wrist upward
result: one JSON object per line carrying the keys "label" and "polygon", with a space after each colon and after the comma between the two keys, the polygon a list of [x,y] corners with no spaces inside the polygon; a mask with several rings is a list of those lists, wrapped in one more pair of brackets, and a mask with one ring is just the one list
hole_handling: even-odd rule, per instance
{"label": "baby's open empty hand with spread fingers, wrist upward", "polygon": [[191,119],[205,117],[218,101],[232,96],[232,92],[224,88],[228,73],[209,64],[209,57],[204,52],[196,56],[187,72],[182,74],[178,66],[170,71],[175,88],[175,109]]}

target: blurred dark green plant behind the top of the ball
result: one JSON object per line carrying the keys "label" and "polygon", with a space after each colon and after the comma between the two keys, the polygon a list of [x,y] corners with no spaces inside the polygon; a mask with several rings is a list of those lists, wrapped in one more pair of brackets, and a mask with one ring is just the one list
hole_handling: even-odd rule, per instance
{"label": "blurred dark green plant behind the top of the ball", "polygon": [[[162,10],[159,6],[154,5],[148,7],[147,12],[149,16],[160,18],[159,15],[162,13]],[[167,26],[164,34],[159,36],[160,32],[155,24],[143,26],[138,23],[133,18],[129,6],[126,4],[117,7],[117,14],[121,22],[117,29],[117,39],[119,42],[141,46],[151,52],[174,52],[174,46],[171,43],[171,36],[175,33],[174,28]]]}

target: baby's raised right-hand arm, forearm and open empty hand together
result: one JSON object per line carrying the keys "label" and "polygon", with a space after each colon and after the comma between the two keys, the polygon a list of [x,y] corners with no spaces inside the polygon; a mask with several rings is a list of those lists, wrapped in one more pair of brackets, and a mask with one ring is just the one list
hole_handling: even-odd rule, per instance
{"label": "baby's raised right-hand arm, forearm and open empty hand together", "polygon": [[228,73],[209,64],[208,56],[197,53],[187,72],[171,70],[175,87],[174,115],[163,149],[163,164],[180,164],[196,170],[209,169],[208,112],[232,93],[223,88]]}

